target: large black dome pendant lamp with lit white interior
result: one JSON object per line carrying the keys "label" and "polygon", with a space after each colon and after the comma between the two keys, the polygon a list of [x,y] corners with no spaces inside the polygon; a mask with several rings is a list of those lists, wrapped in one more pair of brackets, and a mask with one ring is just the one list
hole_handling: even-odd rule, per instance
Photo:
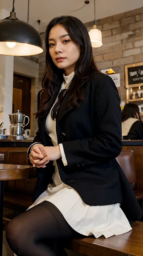
{"label": "large black dome pendant lamp with lit white interior", "polygon": [[0,20],[0,54],[9,56],[31,56],[43,53],[43,43],[39,32],[30,24],[29,0],[27,22],[16,18],[13,9],[10,16]]}

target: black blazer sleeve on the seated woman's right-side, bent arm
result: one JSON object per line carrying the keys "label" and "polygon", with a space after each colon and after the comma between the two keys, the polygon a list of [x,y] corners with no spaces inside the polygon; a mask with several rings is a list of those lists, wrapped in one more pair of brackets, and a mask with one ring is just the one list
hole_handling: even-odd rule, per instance
{"label": "black blazer sleeve on the seated woman's right-side, bent arm", "polygon": [[[94,86],[95,84],[95,86]],[[94,137],[63,142],[68,167],[91,166],[116,158],[122,150],[121,108],[118,90],[109,76],[103,76],[94,94]]]}

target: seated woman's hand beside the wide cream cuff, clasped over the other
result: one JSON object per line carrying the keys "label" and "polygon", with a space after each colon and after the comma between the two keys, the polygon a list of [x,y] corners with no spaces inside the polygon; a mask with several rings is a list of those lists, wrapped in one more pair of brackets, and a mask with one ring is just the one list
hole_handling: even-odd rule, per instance
{"label": "seated woman's hand beside the wide cream cuff, clasped over the other", "polygon": [[61,151],[59,146],[55,147],[42,147],[40,149],[41,155],[43,156],[43,159],[36,163],[36,167],[46,167],[46,164],[49,163],[49,161],[57,160],[61,158]]}

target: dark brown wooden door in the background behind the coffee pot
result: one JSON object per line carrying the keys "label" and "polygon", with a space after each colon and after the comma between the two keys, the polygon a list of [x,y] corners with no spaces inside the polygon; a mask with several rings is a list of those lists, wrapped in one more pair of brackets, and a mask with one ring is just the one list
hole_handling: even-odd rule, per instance
{"label": "dark brown wooden door in the background behind the coffee pot", "polygon": [[[13,77],[13,110],[27,115],[31,113],[31,78],[14,74]],[[28,119],[25,119],[27,123]],[[30,123],[25,127],[30,129]]]}

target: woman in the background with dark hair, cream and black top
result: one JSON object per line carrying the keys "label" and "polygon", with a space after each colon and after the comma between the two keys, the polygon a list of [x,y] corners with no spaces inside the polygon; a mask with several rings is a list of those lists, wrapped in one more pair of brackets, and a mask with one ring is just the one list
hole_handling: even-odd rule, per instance
{"label": "woman in the background with dark hair, cream and black top", "polygon": [[122,138],[143,139],[143,123],[136,104],[127,103],[122,111]]}

